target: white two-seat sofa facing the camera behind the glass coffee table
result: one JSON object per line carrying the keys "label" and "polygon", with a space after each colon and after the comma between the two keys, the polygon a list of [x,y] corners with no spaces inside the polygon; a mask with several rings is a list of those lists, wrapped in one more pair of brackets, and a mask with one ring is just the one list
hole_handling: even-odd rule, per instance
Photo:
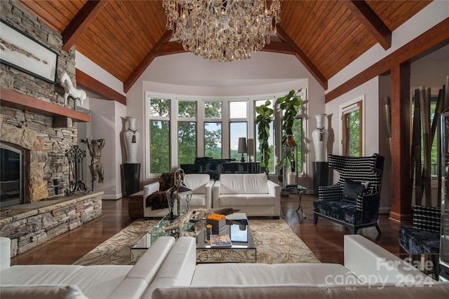
{"label": "white two-seat sofa facing the camera behind the glass coffee table", "polygon": [[281,216],[281,187],[265,174],[220,174],[212,197],[214,209],[232,207],[247,216]]}

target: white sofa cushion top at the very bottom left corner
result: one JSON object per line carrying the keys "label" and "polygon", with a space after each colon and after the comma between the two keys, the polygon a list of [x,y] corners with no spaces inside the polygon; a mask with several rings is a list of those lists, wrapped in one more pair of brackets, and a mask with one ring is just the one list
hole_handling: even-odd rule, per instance
{"label": "white sofa cushion top at the very bottom left corner", "polygon": [[78,286],[75,285],[28,285],[1,286],[1,299],[87,299]]}

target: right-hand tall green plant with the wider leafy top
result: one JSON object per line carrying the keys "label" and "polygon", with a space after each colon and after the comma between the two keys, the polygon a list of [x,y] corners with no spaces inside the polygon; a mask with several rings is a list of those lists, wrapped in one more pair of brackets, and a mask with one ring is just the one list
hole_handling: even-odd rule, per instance
{"label": "right-hand tall green plant with the wider leafy top", "polygon": [[279,97],[276,100],[276,103],[279,104],[279,108],[285,111],[283,114],[282,122],[282,144],[286,143],[288,135],[293,135],[293,122],[295,121],[297,112],[302,104],[301,97],[295,95],[295,93],[295,90],[290,90],[290,92],[288,92],[288,95]]}

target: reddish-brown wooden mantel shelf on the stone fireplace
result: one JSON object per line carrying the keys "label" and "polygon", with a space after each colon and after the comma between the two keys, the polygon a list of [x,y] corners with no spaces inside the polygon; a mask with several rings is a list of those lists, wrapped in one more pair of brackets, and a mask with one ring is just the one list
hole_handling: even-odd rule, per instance
{"label": "reddish-brown wooden mantel shelf on the stone fireplace", "polygon": [[23,111],[39,113],[44,116],[53,116],[55,118],[72,118],[74,122],[91,122],[91,116],[86,113],[29,97],[28,95],[23,95],[14,90],[8,90],[7,88],[0,88],[0,99],[1,106],[8,106]]}

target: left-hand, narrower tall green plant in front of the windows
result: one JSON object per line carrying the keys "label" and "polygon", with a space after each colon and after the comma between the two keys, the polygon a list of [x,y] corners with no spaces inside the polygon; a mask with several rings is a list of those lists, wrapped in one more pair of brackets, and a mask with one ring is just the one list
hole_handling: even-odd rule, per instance
{"label": "left-hand, narrower tall green plant in front of the windows", "polygon": [[255,123],[257,125],[257,131],[259,132],[259,150],[262,155],[260,161],[260,167],[265,174],[269,173],[269,157],[272,149],[269,148],[269,124],[272,123],[272,115],[274,113],[273,109],[269,108],[272,102],[267,101],[264,104],[255,107],[255,111],[258,113],[255,118]]}

